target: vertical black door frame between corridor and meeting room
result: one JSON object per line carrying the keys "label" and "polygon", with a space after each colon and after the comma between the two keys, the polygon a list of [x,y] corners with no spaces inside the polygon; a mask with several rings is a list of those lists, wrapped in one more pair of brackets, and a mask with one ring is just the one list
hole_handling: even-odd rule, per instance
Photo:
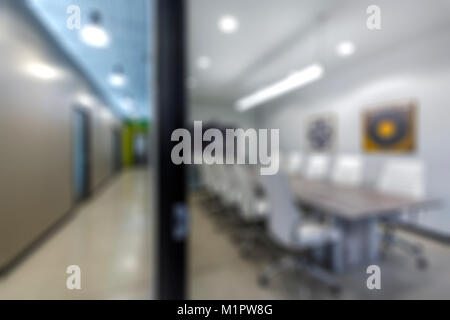
{"label": "vertical black door frame between corridor and meeting room", "polygon": [[185,168],[171,161],[171,135],[185,127],[185,1],[158,0],[156,5],[156,293],[159,299],[184,299],[188,221]]}

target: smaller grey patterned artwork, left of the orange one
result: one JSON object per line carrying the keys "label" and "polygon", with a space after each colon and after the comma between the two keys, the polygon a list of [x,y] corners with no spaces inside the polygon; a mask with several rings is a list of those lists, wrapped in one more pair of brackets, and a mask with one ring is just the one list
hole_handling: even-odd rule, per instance
{"label": "smaller grey patterned artwork, left of the orange one", "polygon": [[337,120],[332,113],[311,117],[306,125],[306,142],[313,152],[334,150],[337,135]]}

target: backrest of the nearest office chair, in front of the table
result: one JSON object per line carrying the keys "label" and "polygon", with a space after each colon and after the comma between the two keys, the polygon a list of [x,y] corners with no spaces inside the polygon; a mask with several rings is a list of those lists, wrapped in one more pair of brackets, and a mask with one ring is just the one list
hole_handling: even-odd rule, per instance
{"label": "backrest of the nearest office chair, in front of the table", "polygon": [[295,245],[295,232],[300,227],[302,216],[295,205],[288,181],[280,173],[261,176],[261,180],[269,200],[269,235],[280,245],[292,247]]}

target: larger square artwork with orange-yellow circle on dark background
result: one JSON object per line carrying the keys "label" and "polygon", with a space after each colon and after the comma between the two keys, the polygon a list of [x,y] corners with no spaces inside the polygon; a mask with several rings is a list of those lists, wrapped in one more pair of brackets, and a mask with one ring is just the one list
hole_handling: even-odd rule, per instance
{"label": "larger square artwork with orange-yellow circle on dark background", "polygon": [[417,110],[412,100],[385,104],[362,115],[362,144],[369,153],[411,153],[416,150]]}

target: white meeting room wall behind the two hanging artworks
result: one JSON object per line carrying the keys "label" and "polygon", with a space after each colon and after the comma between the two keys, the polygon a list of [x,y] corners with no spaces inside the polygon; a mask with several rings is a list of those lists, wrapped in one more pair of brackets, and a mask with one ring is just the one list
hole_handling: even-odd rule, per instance
{"label": "white meeting room wall behind the two hanging artworks", "polygon": [[[337,153],[362,153],[361,111],[370,105],[403,98],[419,103],[418,157],[427,166],[430,196],[450,199],[450,31],[411,43],[398,43],[381,53],[357,58],[329,71],[316,84],[261,107],[259,125],[280,129],[282,150],[305,151],[305,122],[309,115],[338,116]],[[352,58],[350,58],[352,59]],[[326,68],[326,66],[325,66]],[[380,165],[390,156],[366,155],[366,182],[373,183]],[[424,215],[422,223],[450,235],[448,205]]]}

